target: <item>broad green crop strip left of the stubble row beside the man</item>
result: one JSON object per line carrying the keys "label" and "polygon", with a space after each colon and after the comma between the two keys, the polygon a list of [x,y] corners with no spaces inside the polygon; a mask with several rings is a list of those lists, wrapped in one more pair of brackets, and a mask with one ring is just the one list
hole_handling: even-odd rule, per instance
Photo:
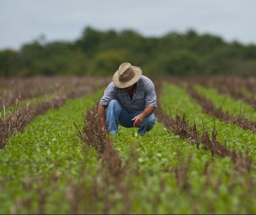
{"label": "broad green crop strip left of the stubble row beside the man", "polygon": [[[0,192],[1,213],[10,214],[10,209],[15,210],[17,202],[26,198],[32,201],[31,205],[12,213],[40,213],[38,190],[43,190],[49,193],[45,203],[49,205],[47,213],[56,214],[62,208],[61,213],[68,214],[69,208],[63,205],[65,199],[62,194],[68,180],[76,181],[80,172],[89,172],[86,176],[89,183],[99,168],[95,149],[84,149],[86,145],[78,141],[73,128],[73,121],[82,127],[81,112],[94,104],[93,98],[89,95],[67,100],[60,109],[49,110],[44,116],[35,118],[24,133],[16,134],[0,151],[0,180],[5,184],[4,191]],[[58,192],[51,187],[53,178],[56,178],[54,186],[58,187]]]}

